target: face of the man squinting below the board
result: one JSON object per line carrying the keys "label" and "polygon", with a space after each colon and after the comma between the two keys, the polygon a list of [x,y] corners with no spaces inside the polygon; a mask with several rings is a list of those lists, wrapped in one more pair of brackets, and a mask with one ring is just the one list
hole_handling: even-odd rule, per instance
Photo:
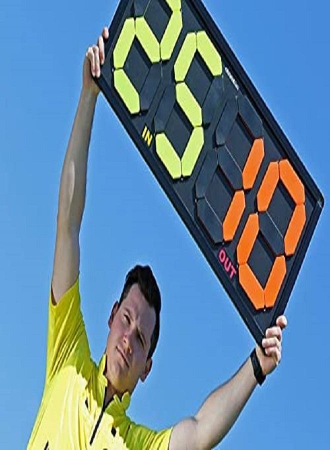
{"label": "face of the man squinting below the board", "polygon": [[133,284],[118,306],[115,303],[109,318],[110,332],[106,342],[106,377],[118,392],[131,393],[140,378],[151,369],[147,359],[156,315],[148,305],[138,284]]}

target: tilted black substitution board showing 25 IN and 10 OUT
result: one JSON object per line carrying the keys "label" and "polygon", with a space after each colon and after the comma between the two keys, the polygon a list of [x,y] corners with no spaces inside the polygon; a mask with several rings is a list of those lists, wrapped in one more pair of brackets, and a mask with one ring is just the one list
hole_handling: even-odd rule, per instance
{"label": "tilted black substitution board showing 25 IN and 10 OUT", "polygon": [[198,0],[119,2],[97,82],[258,343],[323,198]]}

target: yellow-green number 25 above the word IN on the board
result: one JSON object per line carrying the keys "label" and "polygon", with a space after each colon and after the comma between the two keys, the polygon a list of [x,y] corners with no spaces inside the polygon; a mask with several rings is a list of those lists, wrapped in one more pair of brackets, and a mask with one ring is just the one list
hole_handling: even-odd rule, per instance
{"label": "yellow-green number 25 above the word IN on the board", "polygon": [[[168,60],[182,29],[181,0],[165,0],[172,13],[160,43],[143,16],[129,17],[123,23],[113,50],[114,87],[130,114],[140,112],[139,94],[124,71],[128,52],[136,37],[151,64]],[[176,101],[192,125],[182,157],[179,158],[164,132],[156,134],[156,153],[173,179],[190,176],[204,143],[201,107],[185,83],[185,77],[198,52],[213,76],[221,75],[221,57],[205,31],[189,32],[174,63]]]}

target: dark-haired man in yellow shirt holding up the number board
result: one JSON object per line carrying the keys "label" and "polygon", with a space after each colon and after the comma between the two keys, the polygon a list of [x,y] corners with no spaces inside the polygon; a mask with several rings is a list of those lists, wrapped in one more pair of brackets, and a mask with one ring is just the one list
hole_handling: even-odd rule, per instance
{"label": "dark-haired man in yellow shirt holding up the number board", "polygon": [[195,416],[156,432],[126,415],[130,395],[147,378],[159,335],[160,293],[148,266],[131,269],[108,319],[106,348],[96,365],[80,312],[79,230],[85,202],[92,119],[104,62],[104,27],[88,48],[82,90],[59,188],[55,256],[49,295],[46,377],[30,449],[204,449],[230,429],[257,382],[279,363],[286,318],[266,331],[237,373],[215,389]]}

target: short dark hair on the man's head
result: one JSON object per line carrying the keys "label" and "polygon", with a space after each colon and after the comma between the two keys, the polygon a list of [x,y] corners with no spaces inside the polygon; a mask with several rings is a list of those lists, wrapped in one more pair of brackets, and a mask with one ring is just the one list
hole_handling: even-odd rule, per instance
{"label": "short dark hair on the man's head", "polygon": [[160,299],[160,291],[157,285],[157,281],[153,276],[152,270],[148,265],[135,265],[129,272],[126,274],[124,286],[122,288],[122,292],[119,298],[119,306],[122,303],[122,300],[126,297],[129,292],[129,289],[133,284],[137,284],[140,288],[141,293],[146,299],[149,306],[154,309],[156,313],[156,323],[153,328],[153,332],[150,340],[150,348],[148,352],[148,358],[150,358],[156,348],[158,337],[159,337],[159,327],[160,327],[160,308],[161,308],[161,299]]}

